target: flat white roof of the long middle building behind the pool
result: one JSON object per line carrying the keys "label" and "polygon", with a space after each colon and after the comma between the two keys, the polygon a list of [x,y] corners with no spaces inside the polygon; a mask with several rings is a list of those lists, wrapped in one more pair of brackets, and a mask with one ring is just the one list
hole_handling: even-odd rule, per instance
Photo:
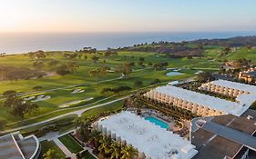
{"label": "flat white roof of the long middle building behind the pool", "polygon": [[155,89],[155,91],[161,94],[169,94],[190,103],[209,106],[210,108],[219,110],[225,114],[234,114],[240,116],[248,109],[248,107],[243,106],[243,104],[230,102],[207,94],[192,92],[187,89],[171,85],[158,87]]}

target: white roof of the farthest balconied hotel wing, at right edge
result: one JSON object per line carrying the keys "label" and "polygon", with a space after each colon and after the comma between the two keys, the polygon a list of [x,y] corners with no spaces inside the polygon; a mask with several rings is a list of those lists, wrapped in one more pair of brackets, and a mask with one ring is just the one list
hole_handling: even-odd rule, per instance
{"label": "white roof of the farthest balconied hotel wing, at right edge", "polygon": [[250,84],[241,84],[241,83],[235,83],[235,82],[226,81],[226,80],[216,80],[216,81],[211,81],[210,83],[228,87],[228,88],[246,91],[251,94],[256,94],[256,86],[250,85]]}

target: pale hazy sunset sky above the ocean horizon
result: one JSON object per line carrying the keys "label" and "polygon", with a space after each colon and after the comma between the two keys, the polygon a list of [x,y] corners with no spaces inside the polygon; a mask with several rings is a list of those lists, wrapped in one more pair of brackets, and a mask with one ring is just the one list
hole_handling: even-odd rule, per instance
{"label": "pale hazy sunset sky above the ocean horizon", "polygon": [[0,0],[0,32],[255,31],[256,0]]}

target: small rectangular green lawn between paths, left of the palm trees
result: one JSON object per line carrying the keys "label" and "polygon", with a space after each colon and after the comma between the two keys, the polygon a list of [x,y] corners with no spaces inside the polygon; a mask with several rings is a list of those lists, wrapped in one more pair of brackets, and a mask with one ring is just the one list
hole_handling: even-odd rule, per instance
{"label": "small rectangular green lawn between paths, left of the palm trees", "polygon": [[77,153],[79,153],[80,151],[83,150],[83,147],[81,147],[77,143],[77,141],[72,136],[70,136],[69,134],[61,136],[58,139],[61,141],[62,144],[64,144],[67,147],[67,149],[71,153],[77,154]]}

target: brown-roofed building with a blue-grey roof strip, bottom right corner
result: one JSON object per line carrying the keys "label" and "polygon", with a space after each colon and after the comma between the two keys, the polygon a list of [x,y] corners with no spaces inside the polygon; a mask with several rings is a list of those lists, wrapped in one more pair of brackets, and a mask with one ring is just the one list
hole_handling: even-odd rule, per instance
{"label": "brown-roofed building with a blue-grey roof strip, bottom right corner", "polygon": [[255,122],[232,114],[193,119],[190,140],[199,151],[193,159],[255,159]]}

